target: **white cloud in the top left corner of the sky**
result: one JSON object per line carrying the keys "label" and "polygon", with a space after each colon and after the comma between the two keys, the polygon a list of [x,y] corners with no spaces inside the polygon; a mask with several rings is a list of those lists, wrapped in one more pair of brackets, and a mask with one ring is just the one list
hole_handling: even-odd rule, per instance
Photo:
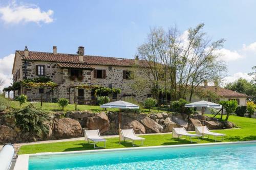
{"label": "white cloud in the top left corner of the sky", "polygon": [[1,19],[6,23],[19,22],[36,22],[50,23],[53,22],[53,11],[41,11],[36,5],[17,5],[13,2],[5,7],[0,7]]}

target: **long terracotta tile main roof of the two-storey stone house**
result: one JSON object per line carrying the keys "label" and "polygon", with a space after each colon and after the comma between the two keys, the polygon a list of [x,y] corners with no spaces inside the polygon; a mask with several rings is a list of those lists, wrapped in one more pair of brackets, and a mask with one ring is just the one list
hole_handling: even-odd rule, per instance
{"label": "long terracotta tile main roof of the two-storey stone house", "polygon": [[[133,66],[136,60],[114,57],[102,57],[102,56],[84,56],[84,62],[79,61],[78,55],[75,54],[53,54],[46,52],[32,52],[29,51],[29,56],[24,57],[24,51],[16,51],[24,60],[36,60],[36,61],[51,61],[51,62],[64,62],[64,63],[86,63],[89,65],[112,65],[112,66]],[[146,66],[146,62],[137,60],[141,66]]]}

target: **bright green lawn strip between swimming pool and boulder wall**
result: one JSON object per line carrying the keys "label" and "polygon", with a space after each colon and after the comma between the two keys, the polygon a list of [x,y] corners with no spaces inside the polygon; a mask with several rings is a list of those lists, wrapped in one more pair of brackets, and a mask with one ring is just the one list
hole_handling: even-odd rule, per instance
{"label": "bright green lawn strip between swimming pool and boulder wall", "polygon": [[[225,117],[224,117],[225,118]],[[214,132],[225,133],[224,141],[243,141],[243,140],[256,140],[256,119],[229,116],[229,121],[235,123],[240,129],[227,129],[217,130]],[[158,145],[172,145],[172,144],[188,144],[189,140],[178,140],[172,139],[171,134],[159,134],[159,135],[144,135],[145,138],[144,147],[147,146],[158,146]],[[132,143],[122,142],[119,145],[119,138],[108,138],[106,142],[106,149],[112,148],[126,148],[132,147]],[[208,143],[214,142],[212,138],[200,140],[193,139],[193,143]],[[139,141],[136,143],[140,144]],[[98,146],[103,146],[103,143],[99,143]],[[68,142],[56,142],[56,143],[45,143],[45,144],[33,144],[23,145],[19,154],[32,154],[40,152],[65,152],[65,151],[81,151],[81,150],[92,150],[93,144],[88,144],[84,140],[68,141]]]}

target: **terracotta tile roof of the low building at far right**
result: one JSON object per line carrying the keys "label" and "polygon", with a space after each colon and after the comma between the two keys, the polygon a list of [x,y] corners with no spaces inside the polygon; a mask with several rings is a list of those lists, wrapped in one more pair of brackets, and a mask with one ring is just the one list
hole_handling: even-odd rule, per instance
{"label": "terracotta tile roof of the low building at far right", "polygon": [[249,97],[246,94],[232,91],[222,87],[200,86],[199,88],[202,88],[203,90],[209,90],[211,92],[216,92],[218,95],[223,96],[224,98],[248,98]]}

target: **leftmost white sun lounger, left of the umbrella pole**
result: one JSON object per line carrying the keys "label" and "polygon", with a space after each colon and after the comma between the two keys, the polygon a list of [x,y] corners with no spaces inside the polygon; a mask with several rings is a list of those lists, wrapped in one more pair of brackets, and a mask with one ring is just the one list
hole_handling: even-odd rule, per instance
{"label": "leftmost white sun lounger, left of the umbrella pole", "polygon": [[104,148],[106,148],[106,139],[100,136],[99,130],[84,130],[84,139],[90,142],[92,140],[94,143],[94,148],[102,148],[102,147],[95,147],[97,142],[104,142]]}

